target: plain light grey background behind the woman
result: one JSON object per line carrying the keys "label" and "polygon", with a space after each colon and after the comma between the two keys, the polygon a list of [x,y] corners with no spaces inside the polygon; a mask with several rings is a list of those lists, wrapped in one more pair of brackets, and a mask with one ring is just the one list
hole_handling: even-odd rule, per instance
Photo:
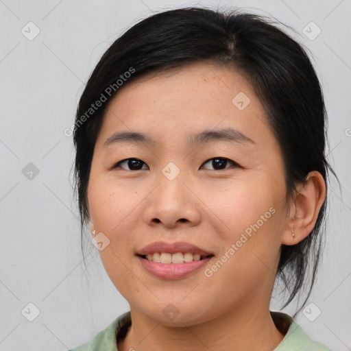
{"label": "plain light grey background behind the woman", "polygon": [[[0,0],[0,350],[73,348],[129,310],[93,246],[85,273],[71,187],[73,143],[64,129],[112,41],[153,12],[185,5],[271,14],[291,25],[298,32],[292,35],[313,53],[329,114],[328,157],[342,193],[332,179],[324,259],[308,302],[313,305],[296,320],[332,350],[351,350],[350,0]],[[29,21],[40,29],[32,40],[27,36],[36,27]],[[303,32],[311,21],[322,30],[314,40]],[[317,33],[316,27],[308,30]],[[278,302],[276,295],[273,309]],[[40,314],[29,322],[36,308]],[[321,314],[311,322],[317,308]]]}

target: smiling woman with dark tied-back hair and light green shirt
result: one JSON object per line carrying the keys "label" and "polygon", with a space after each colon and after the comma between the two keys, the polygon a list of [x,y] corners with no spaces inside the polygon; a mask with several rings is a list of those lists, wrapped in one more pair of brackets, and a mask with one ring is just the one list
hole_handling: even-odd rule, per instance
{"label": "smiling woman with dark tied-back hair and light green shirt", "polygon": [[311,293],[332,171],[295,40],[253,14],[151,16],[97,64],[74,142],[82,230],[130,304],[75,351],[330,350],[269,311],[276,278],[285,306]]}

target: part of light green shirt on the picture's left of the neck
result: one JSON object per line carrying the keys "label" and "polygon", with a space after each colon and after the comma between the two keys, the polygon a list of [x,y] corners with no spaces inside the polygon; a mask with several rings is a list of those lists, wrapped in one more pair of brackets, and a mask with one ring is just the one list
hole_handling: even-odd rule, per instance
{"label": "part of light green shirt on the picture's left of the neck", "polygon": [[130,311],[114,319],[93,340],[77,346],[69,351],[118,351],[117,335],[122,337],[130,326]]}

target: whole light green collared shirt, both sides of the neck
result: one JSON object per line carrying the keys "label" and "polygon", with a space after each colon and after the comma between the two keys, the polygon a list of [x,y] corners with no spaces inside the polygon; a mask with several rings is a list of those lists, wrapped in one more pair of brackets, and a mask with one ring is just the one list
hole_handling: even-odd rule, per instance
{"label": "whole light green collared shirt, both sides of the neck", "polygon": [[[285,334],[285,338],[273,351],[331,351],[322,343],[308,337],[289,315],[274,311],[270,313],[278,330]],[[124,338],[131,324],[130,311],[123,313],[106,329],[99,332],[92,341],[71,351],[118,351],[117,336]]]}

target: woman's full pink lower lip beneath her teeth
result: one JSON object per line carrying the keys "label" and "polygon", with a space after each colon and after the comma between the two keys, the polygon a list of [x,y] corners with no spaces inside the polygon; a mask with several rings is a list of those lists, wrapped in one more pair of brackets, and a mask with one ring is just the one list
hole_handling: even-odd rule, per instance
{"label": "woman's full pink lower lip beneath her teeth", "polygon": [[199,261],[191,261],[184,263],[156,263],[146,258],[138,256],[139,261],[149,273],[162,279],[180,279],[193,273],[197,269],[203,267],[210,261],[213,256],[204,258]]}

